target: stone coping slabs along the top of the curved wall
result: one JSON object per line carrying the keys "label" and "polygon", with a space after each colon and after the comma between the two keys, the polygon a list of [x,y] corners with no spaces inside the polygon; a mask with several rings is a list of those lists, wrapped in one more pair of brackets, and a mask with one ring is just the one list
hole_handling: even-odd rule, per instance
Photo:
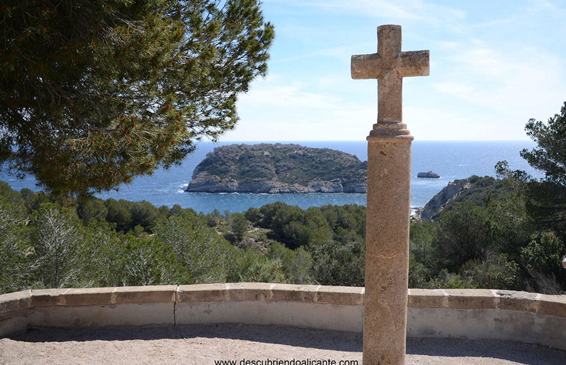
{"label": "stone coping slabs along the top of the curved wall", "polygon": [[[363,305],[363,287],[229,283],[24,290],[0,295],[0,314],[50,306],[101,306],[121,303],[196,303],[263,300]],[[495,289],[409,289],[413,308],[500,308],[566,317],[566,295]]]}

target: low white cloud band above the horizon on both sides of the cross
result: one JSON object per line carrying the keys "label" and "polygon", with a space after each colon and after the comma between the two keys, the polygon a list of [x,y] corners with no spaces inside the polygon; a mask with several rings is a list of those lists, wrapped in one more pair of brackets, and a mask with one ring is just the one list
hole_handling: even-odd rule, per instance
{"label": "low white cloud band above the horizon on both sides of the cross", "polygon": [[[238,101],[241,121],[224,140],[365,139],[377,114],[375,83],[332,75],[315,81],[327,85],[329,91],[312,92],[311,84],[278,75],[256,81]],[[501,90],[482,95],[472,86],[447,81],[435,85],[440,95],[446,95],[444,98],[421,105],[427,104],[419,103],[422,85],[414,84],[406,91],[404,122],[417,140],[526,139],[522,126],[527,118],[520,113],[505,113],[507,107],[495,109],[501,100],[490,100]],[[345,87],[355,89],[363,100],[349,100],[335,92]]]}

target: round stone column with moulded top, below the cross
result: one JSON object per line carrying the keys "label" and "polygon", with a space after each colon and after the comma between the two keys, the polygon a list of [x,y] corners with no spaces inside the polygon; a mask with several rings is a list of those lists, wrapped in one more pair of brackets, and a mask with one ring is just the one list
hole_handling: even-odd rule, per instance
{"label": "round stone column with moulded top, below the cross", "polygon": [[364,365],[405,363],[412,140],[402,123],[367,137]]}

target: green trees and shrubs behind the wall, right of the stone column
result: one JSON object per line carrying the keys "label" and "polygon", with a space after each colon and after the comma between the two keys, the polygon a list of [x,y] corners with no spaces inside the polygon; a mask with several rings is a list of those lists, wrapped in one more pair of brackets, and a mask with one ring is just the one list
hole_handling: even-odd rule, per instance
{"label": "green trees and shrubs behind the wall, right of the stone column", "polygon": [[565,292],[566,103],[525,129],[538,145],[521,156],[544,177],[501,161],[500,182],[470,189],[434,222],[411,226],[410,286]]}

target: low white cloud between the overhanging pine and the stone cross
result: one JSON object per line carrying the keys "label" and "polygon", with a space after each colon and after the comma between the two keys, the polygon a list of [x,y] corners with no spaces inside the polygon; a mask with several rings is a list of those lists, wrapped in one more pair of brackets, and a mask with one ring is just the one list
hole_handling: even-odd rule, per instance
{"label": "low white cloud between the overhanging pine and the stone cross", "polygon": [[[375,85],[358,85],[374,89]],[[352,102],[310,85],[270,76],[238,101],[240,122],[224,140],[363,140],[376,119],[375,100]],[[375,94],[375,91],[374,91]],[[367,95],[371,98],[371,91]]]}

